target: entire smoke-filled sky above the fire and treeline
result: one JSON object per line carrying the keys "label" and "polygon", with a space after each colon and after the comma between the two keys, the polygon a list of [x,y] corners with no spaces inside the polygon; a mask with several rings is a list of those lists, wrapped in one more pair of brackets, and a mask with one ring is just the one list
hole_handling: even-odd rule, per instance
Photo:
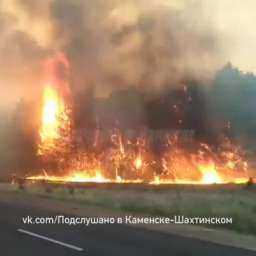
{"label": "entire smoke-filled sky above the fire and treeline", "polygon": [[42,87],[62,52],[71,87],[145,90],[208,79],[231,61],[256,72],[255,0],[0,0],[0,106]]}

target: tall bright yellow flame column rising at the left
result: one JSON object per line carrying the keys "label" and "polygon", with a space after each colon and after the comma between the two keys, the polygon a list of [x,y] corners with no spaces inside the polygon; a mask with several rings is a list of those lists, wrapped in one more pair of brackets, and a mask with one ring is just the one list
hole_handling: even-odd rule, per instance
{"label": "tall bright yellow flame column rising at the left", "polygon": [[71,119],[64,95],[68,85],[58,76],[57,67],[68,69],[65,57],[58,54],[45,64],[45,81],[41,105],[41,123],[39,131],[38,155],[50,157],[67,150],[65,144],[70,141]]}

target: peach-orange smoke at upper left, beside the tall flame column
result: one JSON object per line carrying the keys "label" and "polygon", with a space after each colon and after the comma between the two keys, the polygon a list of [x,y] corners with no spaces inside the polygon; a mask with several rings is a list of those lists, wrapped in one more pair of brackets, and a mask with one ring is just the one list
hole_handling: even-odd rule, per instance
{"label": "peach-orange smoke at upper left, beside the tall flame column", "polygon": [[15,1],[0,0],[0,107],[38,90],[41,61],[50,48],[40,44],[38,24]]}

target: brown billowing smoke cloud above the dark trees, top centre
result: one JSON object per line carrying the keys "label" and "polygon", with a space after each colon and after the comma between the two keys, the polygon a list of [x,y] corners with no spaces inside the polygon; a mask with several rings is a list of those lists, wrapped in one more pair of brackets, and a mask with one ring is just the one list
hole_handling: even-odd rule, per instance
{"label": "brown billowing smoke cloud above the dark trees, top centre", "polygon": [[198,24],[198,7],[194,1],[184,6],[56,0],[51,5],[54,41],[67,54],[78,88],[151,90],[184,77],[206,78],[219,64],[219,47],[212,29]]}

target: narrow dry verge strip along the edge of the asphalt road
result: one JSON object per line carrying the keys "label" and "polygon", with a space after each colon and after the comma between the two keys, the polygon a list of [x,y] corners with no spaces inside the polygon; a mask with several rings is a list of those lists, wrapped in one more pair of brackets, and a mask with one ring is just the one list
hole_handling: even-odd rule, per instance
{"label": "narrow dry verge strip along the edge of the asphalt road", "polygon": [[[124,211],[120,208],[106,208],[104,206],[94,206],[86,202],[75,200],[60,200],[54,193],[34,193],[34,191],[19,192],[16,188],[1,184],[0,200],[6,203],[15,203],[26,208],[44,209],[49,212],[61,213],[67,216],[79,217],[124,217],[126,215],[146,216],[134,211]],[[38,198],[40,197],[40,200]],[[70,199],[72,199],[71,196]],[[232,246],[256,251],[256,238],[254,236],[242,235],[230,230],[208,229],[200,226],[191,225],[129,225],[134,228],[143,228],[151,231],[162,232],[166,234],[175,234],[178,236],[196,238],[202,241],[208,241],[216,244]]]}

